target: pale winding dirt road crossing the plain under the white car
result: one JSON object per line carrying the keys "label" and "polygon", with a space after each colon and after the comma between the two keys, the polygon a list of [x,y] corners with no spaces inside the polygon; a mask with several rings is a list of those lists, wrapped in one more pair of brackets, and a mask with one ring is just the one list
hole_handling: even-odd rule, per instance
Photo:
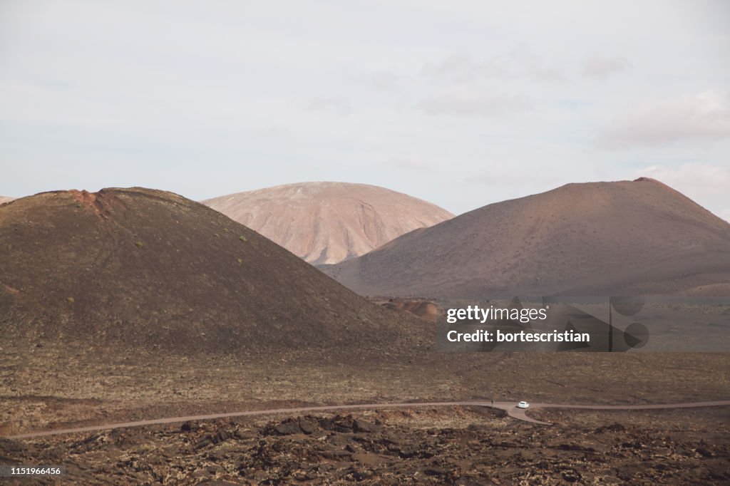
{"label": "pale winding dirt road crossing the plain under the white car", "polygon": [[[535,420],[526,414],[526,409],[518,409],[513,401],[431,401],[399,404],[355,404],[355,405],[324,405],[301,406],[291,409],[250,410],[248,412],[232,412],[224,414],[189,415],[187,417],[166,417],[152,420],[138,420],[137,422],[120,422],[105,425],[90,425],[88,427],[62,428],[53,431],[20,433],[15,436],[5,436],[5,439],[34,439],[37,437],[55,436],[62,433],[82,433],[107,431],[115,428],[140,427],[142,425],[160,425],[166,423],[188,422],[189,420],[212,420],[229,417],[250,417],[253,415],[270,414],[299,414],[305,412],[325,412],[330,410],[352,409],[403,409],[429,406],[488,406],[507,412],[510,417],[529,423],[552,425],[548,422]],[[655,409],[688,409],[705,406],[730,406],[730,400],[698,401],[685,404],[647,404],[647,405],[566,405],[566,404],[531,404],[530,409],[585,409],[585,410],[655,410]]]}

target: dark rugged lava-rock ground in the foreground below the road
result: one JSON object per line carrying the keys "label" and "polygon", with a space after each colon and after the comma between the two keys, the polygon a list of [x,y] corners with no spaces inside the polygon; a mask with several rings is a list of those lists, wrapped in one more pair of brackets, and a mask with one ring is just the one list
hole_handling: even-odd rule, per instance
{"label": "dark rugged lava-rock ground in the foreground below the road", "polygon": [[533,413],[556,425],[461,407],[266,417],[0,439],[0,460],[63,464],[84,484],[730,482],[726,409]]}

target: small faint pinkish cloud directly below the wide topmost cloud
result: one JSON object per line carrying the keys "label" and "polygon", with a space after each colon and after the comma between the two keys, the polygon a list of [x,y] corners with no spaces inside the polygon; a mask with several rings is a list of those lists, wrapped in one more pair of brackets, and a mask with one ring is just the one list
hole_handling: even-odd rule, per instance
{"label": "small faint pinkish cloud directly below the wide topmost cloud", "polygon": [[523,95],[487,95],[466,88],[453,88],[423,99],[418,106],[427,115],[503,117],[529,111],[533,103]]}

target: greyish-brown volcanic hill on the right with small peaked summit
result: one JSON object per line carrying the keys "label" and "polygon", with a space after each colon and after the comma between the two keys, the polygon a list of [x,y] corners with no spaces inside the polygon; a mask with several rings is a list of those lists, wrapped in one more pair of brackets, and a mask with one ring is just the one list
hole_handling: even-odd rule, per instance
{"label": "greyish-brown volcanic hill on the right with small peaked summit", "polygon": [[568,184],[326,271],[377,296],[730,296],[730,224],[656,180]]}

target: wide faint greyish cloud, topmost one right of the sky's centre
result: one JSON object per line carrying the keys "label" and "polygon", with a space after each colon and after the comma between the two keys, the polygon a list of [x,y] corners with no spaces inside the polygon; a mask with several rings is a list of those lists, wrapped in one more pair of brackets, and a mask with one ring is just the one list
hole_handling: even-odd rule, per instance
{"label": "wide faint greyish cloud, topmost one right of the sky's centre", "polygon": [[529,47],[519,45],[504,57],[475,59],[467,53],[452,53],[438,63],[427,63],[421,74],[432,80],[446,82],[473,82],[477,80],[564,81],[557,66],[545,63]]}

